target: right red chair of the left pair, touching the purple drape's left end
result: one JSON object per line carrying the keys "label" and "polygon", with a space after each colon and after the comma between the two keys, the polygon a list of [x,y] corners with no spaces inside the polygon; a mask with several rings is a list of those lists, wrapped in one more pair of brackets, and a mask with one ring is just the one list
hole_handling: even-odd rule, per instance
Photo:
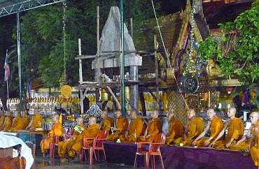
{"label": "right red chair of the left pair, touching the purple drape's left end", "polygon": [[104,141],[107,140],[108,137],[108,132],[103,130],[101,133],[99,133],[99,135],[97,135],[96,138],[94,138],[94,142],[92,144],[93,150],[94,150],[94,158],[97,161],[96,158],[96,150],[98,153],[98,161],[99,161],[99,150],[102,150],[102,152],[104,152],[104,160],[106,161],[106,154],[105,154],[105,150],[104,150]]}

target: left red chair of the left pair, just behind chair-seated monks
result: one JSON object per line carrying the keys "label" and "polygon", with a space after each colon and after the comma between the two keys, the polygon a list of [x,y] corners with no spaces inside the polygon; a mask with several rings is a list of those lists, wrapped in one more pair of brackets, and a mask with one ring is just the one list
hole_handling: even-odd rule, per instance
{"label": "left red chair of the left pair, just behind chair-seated monks", "polygon": [[84,155],[85,155],[85,160],[86,160],[85,150],[88,150],[89,163],[90,163],[90,166],[92,166],[92,153],[94,151],[93,151],[93,146],[88,144],[88,141],[90,141],[90,140],[94,140],[94,138],[83,138],[83,148],[81,149],[79,160],[80,160],[80,162],[83,162]]}

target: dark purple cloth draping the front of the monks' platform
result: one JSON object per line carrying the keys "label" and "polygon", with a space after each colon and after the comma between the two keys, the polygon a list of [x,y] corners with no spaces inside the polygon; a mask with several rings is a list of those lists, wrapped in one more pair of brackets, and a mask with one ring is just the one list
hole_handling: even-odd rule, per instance
{"label": "dark purple cloth draping the front of the monks' platform", "polygon": [[[134,143],[104,142],[109,163],[134,166],[137,145]],[[243,152],[193,147],[161,146],[162,158],[167,169],[255,169],[251,156]],[[155,160],[160,168],[159,159]],[[144,156],[138,158],[138,166],[144,166]]]}

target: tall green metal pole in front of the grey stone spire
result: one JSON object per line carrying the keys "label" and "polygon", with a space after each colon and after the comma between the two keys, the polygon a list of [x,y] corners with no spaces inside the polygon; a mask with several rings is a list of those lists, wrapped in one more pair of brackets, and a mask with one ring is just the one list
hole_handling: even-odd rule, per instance
{"label": "tall green metal pole in front of the grey stone spire", "polygon": [[121,112],[125,116],[125,82],[124,82],[124,27],[123,27],[123,0],[120,0],[120,97]]}

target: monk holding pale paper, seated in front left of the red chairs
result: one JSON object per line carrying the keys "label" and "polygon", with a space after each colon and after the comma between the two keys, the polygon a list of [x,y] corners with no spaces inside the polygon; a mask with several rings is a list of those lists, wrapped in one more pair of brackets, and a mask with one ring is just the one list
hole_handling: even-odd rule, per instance
{"label": "monk holding pale paper, seated in front left of the red chairs", "polygon": [[83,124],[83,117],[78,117],[76,119],[77,125],[73,128],[73,136],[68,140],[64,140],[58,143],[57,153],[61,157],[61,161],[65,162],[66,152],[69,152],[73,145],[81,145],[83,142],[83,130],[85,129],[85,125]]}

